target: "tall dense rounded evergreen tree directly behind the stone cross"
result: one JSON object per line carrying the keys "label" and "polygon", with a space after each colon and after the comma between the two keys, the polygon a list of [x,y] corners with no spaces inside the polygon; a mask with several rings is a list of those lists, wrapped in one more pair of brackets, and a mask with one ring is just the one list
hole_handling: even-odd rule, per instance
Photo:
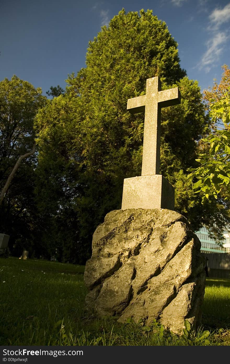
{"label": "tall dense rounded evergreen tree directly behind the stone cross", "polygon": [[[162,110],[161,173],[175,186],[176,209],[195,230],[204,215],[210,219],[210,206],[219,213],[215,202],[201,206],[187,179],[187,168],[197,165],[198,141],[210,125],[198,82],[181,69],[166,23],[150,10],[123,9],[90,41],[86,68],[68,77],[65,97],[51,100],[36,118],[40,167],[55,161],[55,173],[72,188],[78,240],[84,246],[91,246],[104,215],[120,209],[123,179],[141,173],[144,115],[130,115],[127,99],[144,95],[146,79],[154,76],[162,89],[178,86],[182,94],[181,105]],[[58,179],[51,180],[55,187]],[[42,204],[46,194],[40,193]]]}

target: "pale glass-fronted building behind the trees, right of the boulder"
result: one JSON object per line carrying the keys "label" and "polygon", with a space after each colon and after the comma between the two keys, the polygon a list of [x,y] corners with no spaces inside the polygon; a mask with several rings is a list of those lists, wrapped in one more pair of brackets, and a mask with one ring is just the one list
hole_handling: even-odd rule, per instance
{"label": "pale glass-fronted building behind the trees, right of the boulder", "polygon": [[230,253],[230,235],[227,230],[223,233],[223,246],[219,246],[214,239],[209,237],[209,232],[205,226],[197,231],[196,235],[201,242],[201,253]]}

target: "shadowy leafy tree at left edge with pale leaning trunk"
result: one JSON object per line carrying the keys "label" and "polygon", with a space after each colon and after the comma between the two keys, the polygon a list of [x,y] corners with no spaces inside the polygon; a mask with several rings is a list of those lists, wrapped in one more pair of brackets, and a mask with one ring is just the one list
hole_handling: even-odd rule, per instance
{"label": "shadowy leafy tree at left edge with pale leaning trunk", "polygon": [[16,76],[0,82],[0,229],[12,242],[30,239],[35,224],[33,120],[45,100],[40,88]]}

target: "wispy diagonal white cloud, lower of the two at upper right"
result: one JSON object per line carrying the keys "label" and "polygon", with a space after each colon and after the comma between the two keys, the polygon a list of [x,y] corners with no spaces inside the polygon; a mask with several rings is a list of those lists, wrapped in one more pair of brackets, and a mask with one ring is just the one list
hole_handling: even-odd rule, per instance
{"label": "wispy diagonal white cloud, lower of the two at upper right", "polygon": [[211,67],[213,67],[215,62],[219,59],[219,56],[223,51],[224,44],[228,39],[229,36],[227,33],[218,32],[213,36],[212,39],[207,41],[207,51],[199,63],[199,70],[204,68],[206,73],[211,70]]}

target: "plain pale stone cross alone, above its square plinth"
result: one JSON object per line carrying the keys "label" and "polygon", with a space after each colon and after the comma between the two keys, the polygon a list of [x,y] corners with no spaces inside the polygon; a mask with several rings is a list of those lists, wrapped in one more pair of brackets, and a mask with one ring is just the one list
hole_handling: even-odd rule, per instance
{"label": "plain pale stone cross alone, above its square plinth", "polygon": [[144,141],[141,175],[160,172],[160,116],[161,108],[181,103],[178,87],[161,91],[159,77],[146,80],[146,95],[128,99],[131,114],[144,112]]}

